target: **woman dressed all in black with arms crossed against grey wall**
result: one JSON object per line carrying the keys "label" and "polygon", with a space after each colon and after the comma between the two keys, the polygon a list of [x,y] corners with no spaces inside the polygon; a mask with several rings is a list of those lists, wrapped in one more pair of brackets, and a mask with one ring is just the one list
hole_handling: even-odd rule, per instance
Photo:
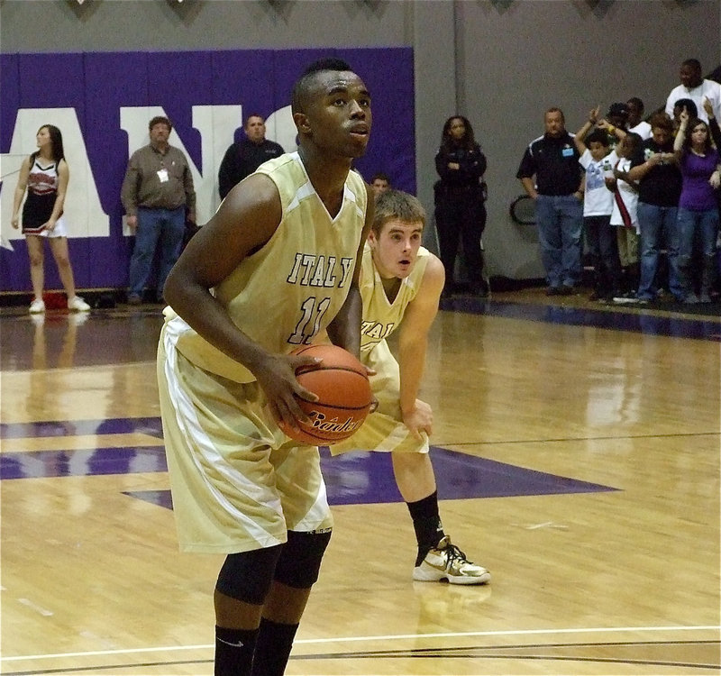
{"label": "woman dressed all in black with arms crossed against grey wall", "polygon": [[435,156],[435,170],[441,177],[435,183],[435,224],[445,269],[444,296],[452,294],[458,246],[470,278],[470,291],[488,296],[488,282],[483,276],[483,253],[480,238],[486,227],[483,174],[486,156],[476,142],[473,127],[461,115],[449,117],[443,124],[441,147]]}

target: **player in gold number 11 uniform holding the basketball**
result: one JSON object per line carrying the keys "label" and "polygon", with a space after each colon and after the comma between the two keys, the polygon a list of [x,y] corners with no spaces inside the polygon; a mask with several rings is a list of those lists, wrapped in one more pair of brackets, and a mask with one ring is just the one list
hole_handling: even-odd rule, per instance
{"label": "player in gold number 11 uniform holding the basketball", "polygon": [[360,260],[370,187],[351,171],[370,94],[339,59],[298,79],[298,151],[233,187],[188,244],[164,294],[158,379],[180,548],[227,554],[214,590],[215,674],[274,676],[333,525],[318,450],[277,421],[315,401],[291,356],[326,332],[360,350]]}

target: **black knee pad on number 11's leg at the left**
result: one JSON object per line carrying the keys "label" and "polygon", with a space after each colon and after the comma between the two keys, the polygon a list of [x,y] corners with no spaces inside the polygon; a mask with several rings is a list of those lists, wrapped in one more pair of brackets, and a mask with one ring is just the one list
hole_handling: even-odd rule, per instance
{"label": "black knee pad on number 11's leg at the left", "polygon": [[245,603],[255,606],[262,604],[268,596],[283,547],[283,544],[277,544],[266,549],[228,554],[218,574],[215,589]]}

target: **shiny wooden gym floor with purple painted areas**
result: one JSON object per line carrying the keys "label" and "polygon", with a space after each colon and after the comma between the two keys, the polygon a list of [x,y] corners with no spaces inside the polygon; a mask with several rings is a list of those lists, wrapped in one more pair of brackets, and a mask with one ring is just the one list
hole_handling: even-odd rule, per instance
{"label": "shiny wooden gym floor with purple painted areas", "polygon": [[[160,307],[0,313],[5,674],[211,674],[222,557],[178,553]],[[446,532],[491,584],[413,582],[388,458],[336,520],[288,674],[718,674],[718,315],[459,298],[423,397]]]}

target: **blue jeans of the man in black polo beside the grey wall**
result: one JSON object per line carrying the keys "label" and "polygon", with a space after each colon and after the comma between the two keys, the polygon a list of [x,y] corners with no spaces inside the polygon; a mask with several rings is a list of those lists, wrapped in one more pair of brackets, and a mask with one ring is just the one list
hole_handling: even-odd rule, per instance
{"label": "blue jeans of the man in black polo beside the grey wall", "polygon": [[581,276],[583,205],[572,195],[539,195],[535,221],[548,286],[575,286]]}

